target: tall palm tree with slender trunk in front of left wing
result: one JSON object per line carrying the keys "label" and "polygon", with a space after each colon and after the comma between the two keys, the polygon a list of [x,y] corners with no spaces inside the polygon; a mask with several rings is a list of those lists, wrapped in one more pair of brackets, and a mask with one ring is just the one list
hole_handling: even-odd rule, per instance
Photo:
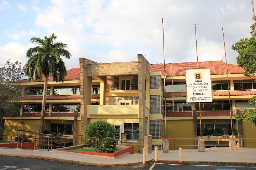
{"label": "tall palm tree with slender trunk in front of left wing", "polygon": [[53,81],[63,82],[67,71],[65,63],[60,57],[71,57],[71,53],[65,50],[67,47],[66,44],[55,42],[56,39],[57,36],[54,34],[49,35],[49,37],[44,36],[44,39],[32,37],[30,42],[37,46],[28,49],[26,53],[26,58],[28,58],[24,67],[26,76],[29,77],[30,81],[33,81],[33,79],[38,81],[44,78],[39,133],[42,133],[43,131],[48,78],[52,77]]}

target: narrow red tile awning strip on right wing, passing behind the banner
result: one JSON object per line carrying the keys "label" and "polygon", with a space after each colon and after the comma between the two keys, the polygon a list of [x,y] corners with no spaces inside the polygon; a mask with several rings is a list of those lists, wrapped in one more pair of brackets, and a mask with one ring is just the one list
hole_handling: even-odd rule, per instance
{"label": "narrow red tile awning strip on right wing, passing behind the banner", "polygon": [[[256,95],[256,90],[230,90],[230,96]],[[228,91],[212,91],[212,96],[228,96]],[[172,97],[172,93],[166,93],[166,97]],[[187,97],[186,92],[174,92],[174,97]]]}

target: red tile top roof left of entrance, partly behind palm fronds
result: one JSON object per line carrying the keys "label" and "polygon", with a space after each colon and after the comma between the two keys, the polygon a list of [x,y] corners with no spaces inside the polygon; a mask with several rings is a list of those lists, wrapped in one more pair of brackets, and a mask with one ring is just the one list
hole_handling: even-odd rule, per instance
{"label": "red tile top roof left of entrance, partly behind palm fronds", "polygon": [[[52,77],[48,78],[48,81],[52,81]],[[64,81],[69,81],[69,80],[80,80],[80,69],[79,68],[71,68],[70,70],[67,71],[67,75],[64,78]],[[44,78],[42,78],[42,81],[44,81]],[[29,79],[24,79],[18,81],[20,83],[25,83],[25,82],[30,82]]]}

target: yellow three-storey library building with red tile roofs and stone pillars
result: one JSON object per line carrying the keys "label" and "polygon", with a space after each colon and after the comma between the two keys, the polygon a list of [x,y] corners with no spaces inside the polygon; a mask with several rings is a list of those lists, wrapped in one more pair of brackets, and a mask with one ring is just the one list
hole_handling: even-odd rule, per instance
{"label": "yellow three-storey library building with red tile roofs and stone pillars", "polygon": [[[227,66],[223,61],[198,63],[199,68],[210,68],[213,98],[201,103],[202,136],[230,134],[232,122],[240,138],[256,138],[249,123],[233,119],[238,108],[255,109],[247,100],[256,95],[256,77],[245,77],[237,65]],[[103,119],[115,126],[117,136],[129,133],[141,148],[146,135],[159,147],[164,138],[198,138],[199,103],[187,103],[186,98],[186,70],[196,68],[196,62],[165,64],[164,77],[163,64],[149,64],[142,55],[135,62],[117,63],[80,58],[80,68],[68,70],[63,82],[49,78],[43,131],[84,135],[85,125]],[[21,103],[21,112],[4,117],[5,134],[39,131],[43,81],[26,79],[20,86],[26,90],[14,102]]]}

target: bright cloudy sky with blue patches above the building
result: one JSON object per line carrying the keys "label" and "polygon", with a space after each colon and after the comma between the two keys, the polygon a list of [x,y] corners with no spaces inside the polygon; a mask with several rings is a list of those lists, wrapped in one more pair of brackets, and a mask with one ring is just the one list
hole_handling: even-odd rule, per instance
{"label": "bright cloudy sky with blue patches above the building", "polygon": [[[256,3],[256,2],[255,2]],[[251,0],[0,0],[0,64],[26,63],[30,38],[54,33],[68,45],[67,69],[84,57],[99,63],[137,61],[151,64],[227,61],[236,64],[231,45],[250,37]]]}

